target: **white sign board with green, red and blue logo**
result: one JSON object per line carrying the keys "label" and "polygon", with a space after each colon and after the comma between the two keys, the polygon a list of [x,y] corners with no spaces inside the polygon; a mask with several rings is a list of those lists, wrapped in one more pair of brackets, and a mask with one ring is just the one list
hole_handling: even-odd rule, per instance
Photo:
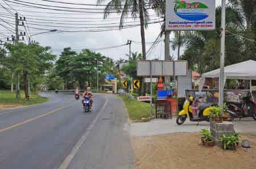
{"label": "white sign board with green, red and blue logo", "polygon": [[215,29],[215,0],[166,1],[166,31]]}

